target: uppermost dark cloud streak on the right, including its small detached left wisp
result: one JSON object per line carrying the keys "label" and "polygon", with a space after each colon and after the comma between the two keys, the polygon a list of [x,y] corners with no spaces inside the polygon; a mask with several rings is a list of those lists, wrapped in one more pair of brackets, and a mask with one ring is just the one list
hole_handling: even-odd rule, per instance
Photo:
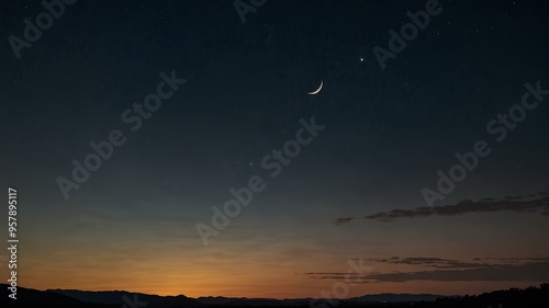
{"label": "uppermost dark cloud streak on the right, including its small detached left wisp", "polygon": [[[505,196],[503,198],[484,198],[477,202],[461,201],[453,205],[441,205],[433,207],[416,207],[414,209],[393,209],[368,215],[363,218],[378,221],[391,221],[396,218],[414,218],[428,216],[456,216],[468,213],[489,213],[500,210],[535,213],[541,209],[540,214],[549,216],[549,193],[547,191],[526,196]],[[355,217],[334,219],[336,226],[350,221]]]}

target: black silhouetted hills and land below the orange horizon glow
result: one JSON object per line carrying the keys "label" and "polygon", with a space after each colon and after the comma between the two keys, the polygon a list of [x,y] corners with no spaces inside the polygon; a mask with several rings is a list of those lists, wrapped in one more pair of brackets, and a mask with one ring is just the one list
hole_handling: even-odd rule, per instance
{"label": "black silhouetted hills and land below the orange horizon glow", "polygon": [[468,307],[468,308],[513,308],[549,307],[549,284],[526,289],[512,288],[495,290],[473,296],[444,297],[436,295],[380,294],[355,297],[345,300],[335,299],[269,299],[269,298],[227,298],[179,296],[157,296],[132,294],[127,292],[81,292],[81,290],[36,290],[18,288],[16,300],[8,296],[8,285],[1,284],[1,307],[36,308],[180,308],[180,307]]}

